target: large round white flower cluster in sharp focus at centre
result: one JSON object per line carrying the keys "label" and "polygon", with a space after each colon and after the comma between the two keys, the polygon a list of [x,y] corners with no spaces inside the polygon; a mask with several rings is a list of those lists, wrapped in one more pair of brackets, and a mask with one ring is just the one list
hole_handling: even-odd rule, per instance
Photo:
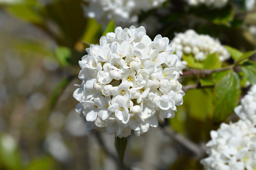
{"label": "large round white flower cluster in sharp focus at centre", "polygon": [[131,26],[101,37],[79,61],[82,80],[73,96],[87,129],[106,127],[119,137],[157,127],[157,118],[172,118],[185,93],[178,78],[183,64],[168,38],[152,41],[144,27]]}

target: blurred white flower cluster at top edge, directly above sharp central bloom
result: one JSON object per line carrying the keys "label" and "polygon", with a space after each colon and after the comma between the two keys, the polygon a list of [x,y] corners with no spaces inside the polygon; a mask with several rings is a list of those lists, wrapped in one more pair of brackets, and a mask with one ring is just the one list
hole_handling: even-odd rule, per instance
{"label": "blurred white flower cluster at top edge, directly above sharp central bloom", "polygon": [[166,0],[85,0],[88,6],[84,12],[89,18],[95,18],[101,24],[112,19],[118,26],[127,26],[138,22],[141,11],[159,7]]}

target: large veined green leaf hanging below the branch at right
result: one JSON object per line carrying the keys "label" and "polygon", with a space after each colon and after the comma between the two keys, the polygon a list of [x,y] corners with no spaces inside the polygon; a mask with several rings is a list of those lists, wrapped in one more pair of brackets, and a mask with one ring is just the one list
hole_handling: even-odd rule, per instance
{"label": "large veined green leaf hanging below the branch at right", "polygon": [[214,88],[214,122],[219,123],[233,113],[239,102],[240,82],[238,75],[231,71],[223,77]]}

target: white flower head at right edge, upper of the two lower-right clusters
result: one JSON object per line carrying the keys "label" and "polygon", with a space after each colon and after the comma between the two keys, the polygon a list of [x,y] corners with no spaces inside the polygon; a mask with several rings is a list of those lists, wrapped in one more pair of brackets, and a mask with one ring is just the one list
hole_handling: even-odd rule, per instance
{"label": "white flower head at right edge, upper of the two lower-right clusters", "polygon": [[235,113],[243,120],[256,124],[256,85],[253,85],[248,94],[241,100],[241,105],[235,108]]}

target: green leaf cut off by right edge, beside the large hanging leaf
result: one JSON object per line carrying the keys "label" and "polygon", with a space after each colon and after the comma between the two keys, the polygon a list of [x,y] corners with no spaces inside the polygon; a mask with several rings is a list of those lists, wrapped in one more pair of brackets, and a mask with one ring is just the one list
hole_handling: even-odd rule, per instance
{"label": "green leaf cut off by right edge, beside the large hanging leaf", "polygon": [[250,84],[256,84],[256,63],[252,61],[247,61],[243,63],[241,68]]}

